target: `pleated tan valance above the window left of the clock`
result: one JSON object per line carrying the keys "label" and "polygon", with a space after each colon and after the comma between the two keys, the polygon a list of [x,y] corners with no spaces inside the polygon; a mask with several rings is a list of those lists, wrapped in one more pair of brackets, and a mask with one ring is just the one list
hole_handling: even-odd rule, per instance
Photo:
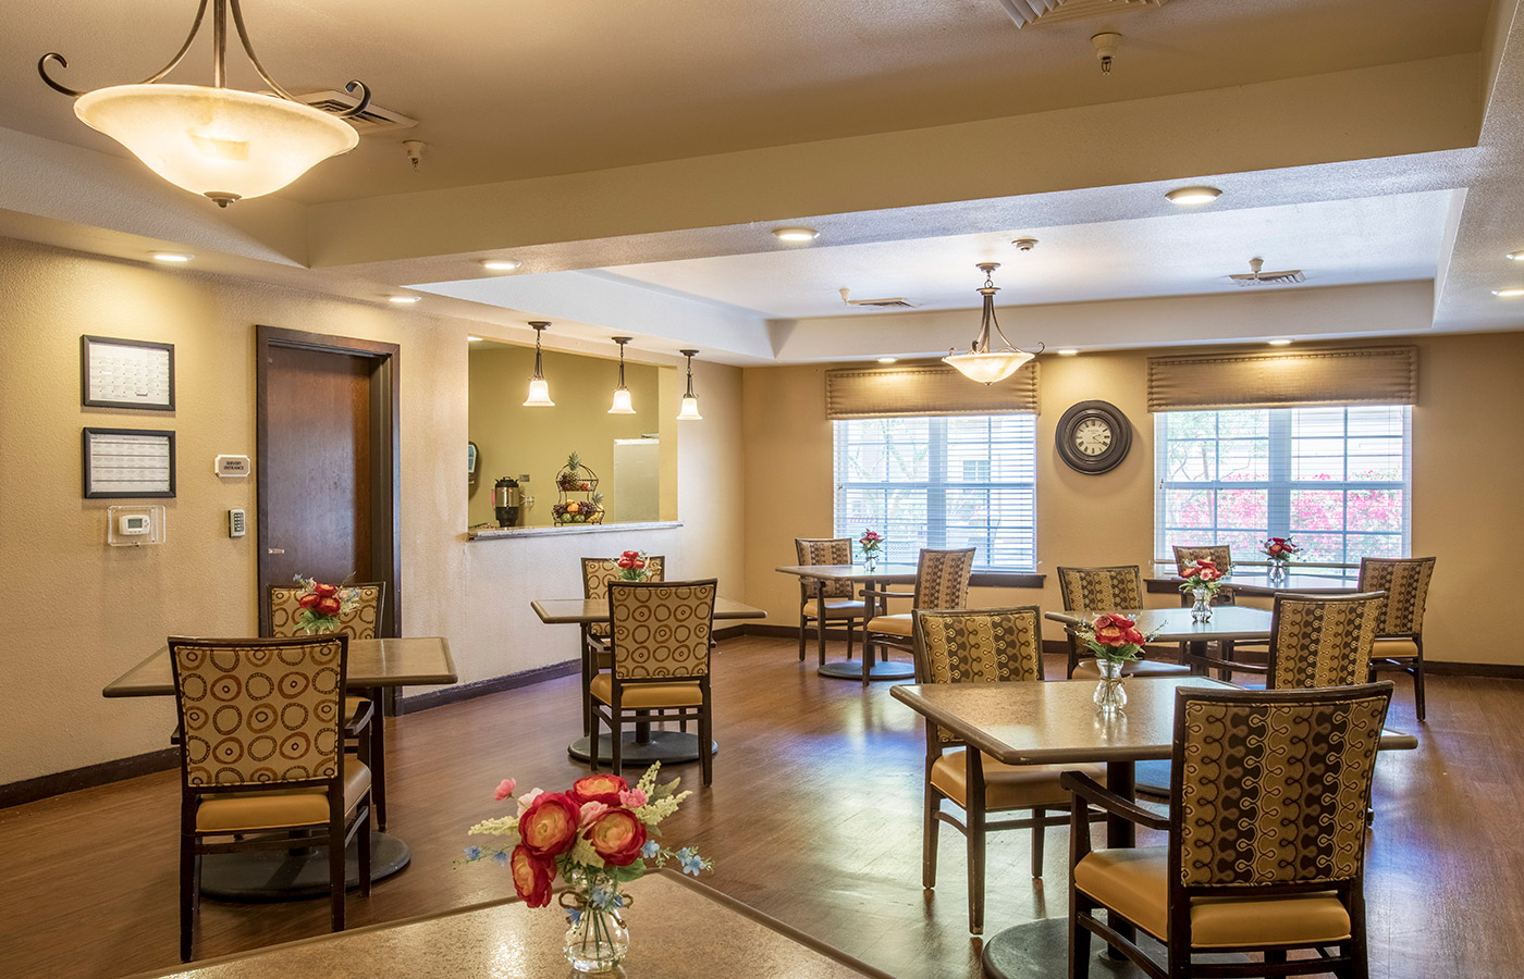
{"label": "pleated tan valance above the window left of the clock", "polygon": [[1038,365],[985,387],[946,364],[838,367],[826,372],[826,417],[893,419],[1036,414]]}

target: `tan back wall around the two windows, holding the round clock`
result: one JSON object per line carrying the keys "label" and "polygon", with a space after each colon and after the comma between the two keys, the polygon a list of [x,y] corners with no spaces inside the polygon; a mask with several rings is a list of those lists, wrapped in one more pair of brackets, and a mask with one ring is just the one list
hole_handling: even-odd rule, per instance
{"label": "tan back wall around the two windows, holding the round clock", "polygon": [[[1433,659],[1524,664],[1509,643],[1475,643],[1468,595],[1524,588],[1524,521],[1512,499],[1524,480],[1524,333],[1426,338],[1413,411],[1413,553],[1439,556],[1425,623]],[[975,604],[1062,607],[1058,565],[1143,563],[1154,551],[1154,422],[1148,353],[1042,358],[1038,419],[1038,589],[975,589]],[[1053,449],[1059,416],[1100,397],[1132,420],[1128,458],[1085,477]],[[794,623],[799,586],[773,571],[794,563],[796,536],[832,530],[831,423],[824,367],[748,368],[744,379],[747,600]],[[1169,595],[1152,601],[1169,603]]]}

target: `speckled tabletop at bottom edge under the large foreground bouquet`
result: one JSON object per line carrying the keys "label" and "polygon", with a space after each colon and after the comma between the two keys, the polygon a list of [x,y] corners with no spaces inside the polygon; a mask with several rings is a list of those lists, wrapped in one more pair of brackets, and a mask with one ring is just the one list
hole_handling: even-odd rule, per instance
{"label": "speckled tabletop at bottom edge under the large foreground bouquet", "polygon": [[[497,872],[507,880],[504,871],[486,865],[460,872]],[[634,898],[623,912],[629,927],[629,958],[619,974],[626,979],[890,979],[887,973],[671,869],[648,874],[625,889]],[[308,938],[158,974],[166,979],[575,976],[561,953],[565,929],[565,914],[553,904],[530,909],[517,900],[498,901]]]}

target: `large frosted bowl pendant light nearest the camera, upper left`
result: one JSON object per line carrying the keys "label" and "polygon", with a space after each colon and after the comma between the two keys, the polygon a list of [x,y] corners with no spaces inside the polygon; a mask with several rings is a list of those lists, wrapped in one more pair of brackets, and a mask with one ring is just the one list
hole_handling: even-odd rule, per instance
{"label": "large frosted bowl pendant light nearest the camera, upper left", "polygon": [[[160,84],[190,50],[207,3],[213,5],[212,87]],[[227,88],[229,14],[244,53],[274,94]],[[360,134],[344,119],[370,105],[370,90],[358,81],[344,85],[360,93],[358,104],[340,113],[305,105],[277,85],[255,55],[239,0],[201,0],[175,56],[134,85],[76,91],[49,78],[50,62],[69,62],[55,52],[43,55],[37,70],[50,88],[75,96],[75,114],[85,125],[126,146],[169,183],[219,207],[273,193],[323,160],[354,149]]]}

